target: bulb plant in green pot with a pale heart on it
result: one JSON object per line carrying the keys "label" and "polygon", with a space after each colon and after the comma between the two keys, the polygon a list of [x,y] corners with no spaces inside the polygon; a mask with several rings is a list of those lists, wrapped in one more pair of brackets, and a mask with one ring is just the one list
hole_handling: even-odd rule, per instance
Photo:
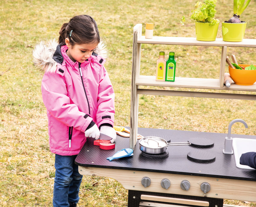
{"label": "bulb plant in green pot with a pale heart on it", "polygon": [[241,42],[244,38],[246,22],[240,21],[240,15],[244,12],[251,0],[234,0],[233,17],[222,22],[222,39],[228,42]]}

